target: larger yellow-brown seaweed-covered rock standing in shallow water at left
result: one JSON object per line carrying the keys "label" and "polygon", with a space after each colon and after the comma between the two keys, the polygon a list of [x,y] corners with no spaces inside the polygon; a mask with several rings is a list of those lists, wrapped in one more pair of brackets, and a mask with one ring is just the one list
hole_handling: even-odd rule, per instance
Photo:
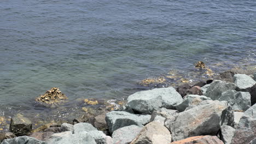
{"label": "larger yellow-brown seaweed-covered rock standing in shallow water at left", "polygon": [[49,91],[46,91],[43,95],[40,95],[36,101],[51,105],[61,103],[66,99],[68,99],[67,96],[60,91],[60,88],[53,87]]}

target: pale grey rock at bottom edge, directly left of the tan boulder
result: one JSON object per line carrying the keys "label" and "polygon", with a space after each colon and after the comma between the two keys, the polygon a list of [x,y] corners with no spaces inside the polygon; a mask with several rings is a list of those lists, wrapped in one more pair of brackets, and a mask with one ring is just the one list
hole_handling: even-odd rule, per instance
{"label": "pale grey rock at bottom edge, directly left of the tan boulder", "polygon": [[130,125],[117,129],[112,134],[113,143],[129,144],[142,130],[142,127]]}

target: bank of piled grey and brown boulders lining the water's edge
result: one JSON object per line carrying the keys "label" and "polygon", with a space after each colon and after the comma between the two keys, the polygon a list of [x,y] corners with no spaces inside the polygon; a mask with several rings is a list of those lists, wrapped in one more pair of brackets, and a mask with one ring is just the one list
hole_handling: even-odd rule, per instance
{"label": "bank of piled grey and brown boulders lining the water's edge", "polygon": [[[96,101],[86,100],[86,103]],[[233,69],[194,85],[136,92],[118,110],[85,107],[86,115],[67,123],[48,123],[33,129],[30,119],[18,114],[11,118],[9,132],[0,133],[0,141],[2,144],[255,144],[255,103],[255,71],[246,75]]]}

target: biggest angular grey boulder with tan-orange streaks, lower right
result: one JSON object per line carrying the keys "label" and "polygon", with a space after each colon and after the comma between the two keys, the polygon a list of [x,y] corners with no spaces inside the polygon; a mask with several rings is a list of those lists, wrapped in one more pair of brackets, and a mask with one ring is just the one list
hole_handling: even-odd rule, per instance
{"label": "biggest angular grey boulder with tan-orange streaks, lower right", "polygon": [[232,107],[227,101],[213,101],[211,104],[169,117],[165,126],[171,131],[173,141],[190,136],[217,135],[221,125],[234,125]]}

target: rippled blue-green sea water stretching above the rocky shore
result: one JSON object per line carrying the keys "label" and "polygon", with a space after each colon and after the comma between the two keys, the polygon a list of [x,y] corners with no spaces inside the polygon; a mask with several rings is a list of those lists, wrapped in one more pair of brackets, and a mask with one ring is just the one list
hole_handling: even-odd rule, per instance
{"label": "rippled blue-green sea water stretching above the rocky shore", "polygon": [[197,61],[253,67],[255,45],[255,0],[1,0],[0,110],[48,112],[33,103],[51,87],[69,101],[125,99]]}

